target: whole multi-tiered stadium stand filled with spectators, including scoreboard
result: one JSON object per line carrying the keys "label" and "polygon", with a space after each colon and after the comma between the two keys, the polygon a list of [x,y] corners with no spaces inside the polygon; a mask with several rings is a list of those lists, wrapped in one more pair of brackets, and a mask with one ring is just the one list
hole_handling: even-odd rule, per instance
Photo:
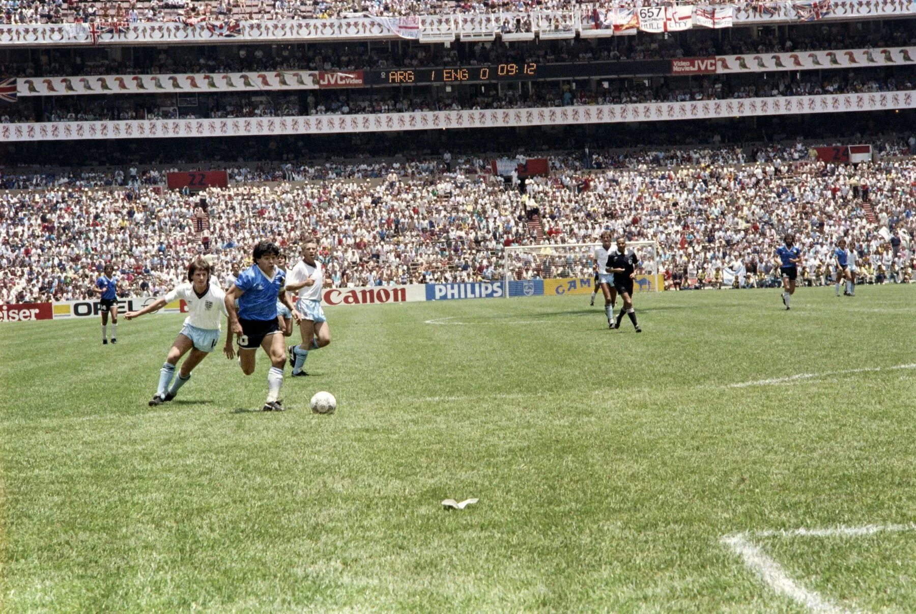
{"label": "whole multi-tiered stadium stand filled with spectators, including scoreboard", "polygon": [[[256,239],[295,250],[310,235],[322,237],[329,278],[344,287],[496,280],[507,246],[592,242],[603,229],[657,240],[672,287],[717,285],[724,268],[746,271],[738,285],[777,283],[771,254],[789,230],[805,249],[805,282],[823,283],[838,236],[859,250],[866,280],[912,277],[916,14],[907,3],[0,7],[0,99],[13,103],[0,106],[2,302],[89,298],[105,261],[122,270],[127,291],[155,296],[192,255],[212,253],[224,272]],[[642,16],[618,23],[643,7],[661,7],[664,30],[679,11],[715,16],[720,8],[734,27],[648,32],[658,24]],[[432,35],[440,38],[424,39]],[[792,54],[798,64],[782,64]],[[540,72],[490,75],[488,67],[509,64]],[[476,67],[476,80],[462,67]],[[445,70],[457,76],[445,82]],[[349,81],[337,81],[344,71]],[[225,90],[236,72],[254,78],[251,91]],[[144,85],[175,74],[185,80],[180,92]],[[781,102],[827,94],[837,98]],[[862,95],[854,102],[852,94]],[[767,112],[755,115],[757,102],[754,112],[731,106],[748,99],[766,99]],[[578,119],[580,109],[607,105],[717,101],[734,115],[674,121],[644,107],[640,121]],[[485,128],[412,132],[394,121],[496,109],[563,115],[523,126],[493,114]],[[354,115],[365,123],[347,124]],[[188,121],[261,117],[317,118],[341,134],[229,137],[215,132],[218,122],[206,133]],[[174,132],[155,141],[127,132],[125,122],[141,120],[169,120]],[[812,150],[847,145],[874,154],[850,164]],[[491,161],[519,153],[549,159],[549,172],[527,181],[494,175]],[[201,193],[166,189],[177,170],[226,170],[230,182],[202,192],[209,206],[201,214]],[[567,272],[588,274],[576,267]],[[541,273],[532,262],[522,275]]]}

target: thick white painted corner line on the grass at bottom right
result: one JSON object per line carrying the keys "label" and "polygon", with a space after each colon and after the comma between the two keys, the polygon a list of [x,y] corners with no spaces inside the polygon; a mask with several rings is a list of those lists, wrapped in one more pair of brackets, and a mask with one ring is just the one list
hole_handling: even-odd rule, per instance
{"label": "thick white painted corner line on the grass at bottom right", "polygon": [[845,613],[856,612],[837,606],[817,591],[802,587],[782,569],[751,537],[861,537],[878,532],[900,532],[916,530],[916,524],[867,524],[861,527],[835,527],[832,529],[794,529],[791,531],[755,531],[725,535],[721,542],[739,555],[747,565],[774,592],[791,598],[812,612]]}

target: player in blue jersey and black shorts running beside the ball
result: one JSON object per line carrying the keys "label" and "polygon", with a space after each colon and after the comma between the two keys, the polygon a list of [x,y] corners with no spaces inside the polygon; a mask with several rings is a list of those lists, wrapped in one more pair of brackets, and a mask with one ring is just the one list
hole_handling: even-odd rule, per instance
{"label": "player in blue jersey and black shorts running beside the ball", "polygon": [[[283,411],[278,399],[283,385],[283,365],[286,363],[286,346],[279,329],[277,302],[289,309],[293,320],[300,314],[289,302],[286,292],[286,271],[277,267],[280,250],[270,241],[259,242],[254,249],[255,264],[239,273],[226,291],[225,305],[229,312],[232,334],[238,338],[239,364],[245,375],[255,372],[255,355],[258,347],[270,356],[267,370],[267,401],[264,411]],[[235,300],[238,307],[235,307]],[[230,355],[232,337],[226,339],[226,356]]]}

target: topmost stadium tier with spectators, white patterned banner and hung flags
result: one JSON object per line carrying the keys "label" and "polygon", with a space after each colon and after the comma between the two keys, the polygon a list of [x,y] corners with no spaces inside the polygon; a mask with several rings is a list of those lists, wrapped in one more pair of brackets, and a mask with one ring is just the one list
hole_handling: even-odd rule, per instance
{"label": "topmost stadium tier with spectators, white patterned banner and hung flags", "polygon": [[671,2],[604,0],[2,0],[0,43],[161,44],[163,42],[389,39],[421,42],[606,37],[699,27],[861,20],[916,13],[913,0]]}

